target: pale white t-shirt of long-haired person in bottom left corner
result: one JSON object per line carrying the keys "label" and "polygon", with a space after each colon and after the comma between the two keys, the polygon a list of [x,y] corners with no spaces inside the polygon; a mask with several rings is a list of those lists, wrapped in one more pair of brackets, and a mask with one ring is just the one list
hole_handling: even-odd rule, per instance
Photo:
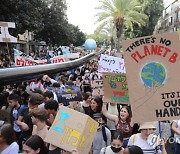
{"label": "pale white t-shirt of long-haired person in bottom left corner", "polygon": [[16,142],[11,143],[1,154],[18,154],[19,145]]}

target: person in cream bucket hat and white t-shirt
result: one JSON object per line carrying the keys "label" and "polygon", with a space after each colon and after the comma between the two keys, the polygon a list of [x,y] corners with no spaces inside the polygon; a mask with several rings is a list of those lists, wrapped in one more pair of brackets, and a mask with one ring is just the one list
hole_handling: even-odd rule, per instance
{"label": "person in cream bucket hat and white t-shirt", "polygon": [[134,134],[130,137],[128,146],[139,146],[144,154],[167,154],[164,140],[153,135],[156,127],[152,122],[140,124],[139,130],[141,133]]}

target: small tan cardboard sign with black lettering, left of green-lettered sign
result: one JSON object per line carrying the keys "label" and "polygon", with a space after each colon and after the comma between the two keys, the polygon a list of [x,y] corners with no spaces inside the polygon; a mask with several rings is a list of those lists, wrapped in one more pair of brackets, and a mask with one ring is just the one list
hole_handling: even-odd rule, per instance
{"label": "small tan cardboard sign with black lettering, left of green-lettered sign", "polygon": [[103,80],[93,80],[91,84],[93,96],[103,96]]}

